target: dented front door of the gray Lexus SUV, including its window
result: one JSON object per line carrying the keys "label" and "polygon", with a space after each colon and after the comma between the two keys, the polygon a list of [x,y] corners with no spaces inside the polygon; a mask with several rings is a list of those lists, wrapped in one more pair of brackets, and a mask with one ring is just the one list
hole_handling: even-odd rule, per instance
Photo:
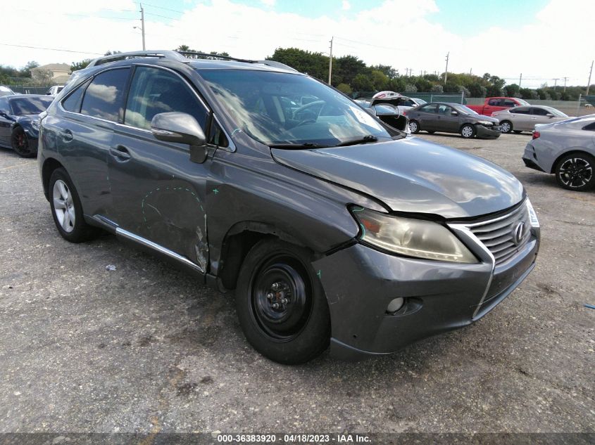
{"label": "dented front door of the gray Lexus SUV, including its window", "polygon": [[128,238],[149,240],[206,271],[206,179],[211,167],[190,160],[189,146],[158,141],[151,120],[162,112],[192,115],[205,134],[209,110],[177,72],[134,67],[122,124],[108,156],[111,219]]}

